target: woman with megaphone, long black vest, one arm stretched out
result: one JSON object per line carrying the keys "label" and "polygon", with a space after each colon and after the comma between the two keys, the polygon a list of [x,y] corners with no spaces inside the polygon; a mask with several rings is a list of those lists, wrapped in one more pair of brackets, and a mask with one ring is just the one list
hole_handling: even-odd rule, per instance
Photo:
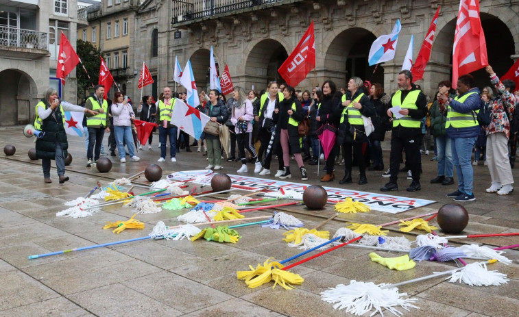
{"label": "woman with megaphone, long black vest, one arm stretched out", "polygon": [[68,155],[69,148],[64,127],[65,111],[97,114],[79,105],[65,103],[60,105],[56,89],[45,90],[43,99],[36,105],[36,119],[34,119],[34,129],[44,132],[43,138],[36,139],[36,157],[41,159],[45,183],[52,183],[51,160],[56,160],[60,183],[69,180],[69,177],[65,176],[65,157]]}

